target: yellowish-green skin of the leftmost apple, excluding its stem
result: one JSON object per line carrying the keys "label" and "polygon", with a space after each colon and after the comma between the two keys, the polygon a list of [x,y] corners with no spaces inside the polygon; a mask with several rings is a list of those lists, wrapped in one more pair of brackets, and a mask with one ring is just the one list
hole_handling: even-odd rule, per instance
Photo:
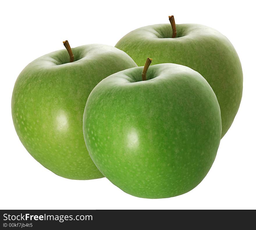
{"label": "yellowish-green skin of the leftmost apple, excluding its stem", "polygon": [[13,89],[12,117],[27,151],[65,178],[102,178],[83,139],[83,111],[91,90],[105,77],[137,66],[117,48],[90,44],[58,50],[32,61]]}

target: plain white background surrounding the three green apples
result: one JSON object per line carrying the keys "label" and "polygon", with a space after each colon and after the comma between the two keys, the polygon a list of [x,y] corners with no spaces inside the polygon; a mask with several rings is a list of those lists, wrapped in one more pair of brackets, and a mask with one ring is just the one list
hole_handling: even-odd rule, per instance
{"label": "plain white background surrounding the three green apples", "polygon": [[[1,3],[0,209],[255,209],[255,8],[253,1],[4,1]],[[100,43],[114,46],[136,28],[199,23],[230,39],[240,57],[243,98],[216,160],[192,191],[174,198],[128,195],[106,178],[61,178],[26,151],[15,132],[11,95],[31,61],[54,50]]]}

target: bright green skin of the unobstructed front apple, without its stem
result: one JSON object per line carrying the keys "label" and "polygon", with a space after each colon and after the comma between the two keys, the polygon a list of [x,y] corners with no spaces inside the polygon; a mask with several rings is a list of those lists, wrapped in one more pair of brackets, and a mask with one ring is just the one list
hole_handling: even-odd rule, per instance
{"label": "bright green skin of the unobstructed front apple, without its stem", "polygon": [[[154,60],[153,60],[154,61]],[[83,115],[88,152],[131,195],[168,198],[197,186],[214,162],[221,113],[207,81],[177,64],[115,73],[90,93]]]}

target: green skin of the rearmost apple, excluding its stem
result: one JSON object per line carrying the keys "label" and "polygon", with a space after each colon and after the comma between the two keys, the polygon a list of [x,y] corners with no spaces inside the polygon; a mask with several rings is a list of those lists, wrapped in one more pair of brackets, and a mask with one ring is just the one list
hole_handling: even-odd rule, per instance
{"label": "green skin of the rearmost apple, excluding its stem", "polygon": [[145,26],[125,35],[115,47],[125,51],[138,66],[145,57],[152,64],[176,63],[199,72],[214,90],[221,108],[222,137],[237,114],[243,90],[243,73],[236,50],[217,30],[198,24]]}

